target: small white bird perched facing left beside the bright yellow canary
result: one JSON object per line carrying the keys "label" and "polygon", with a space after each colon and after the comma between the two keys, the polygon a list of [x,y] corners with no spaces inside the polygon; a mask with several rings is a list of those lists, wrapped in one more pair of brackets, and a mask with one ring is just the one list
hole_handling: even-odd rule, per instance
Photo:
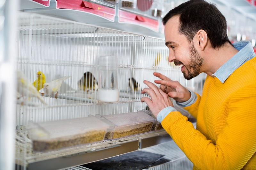
{"label": "small white bird perched facing left beside the bright yellow canary", "polygon": [[60,92],[62,82],[70,77],[71,76],[64,76],[60,79],[53,80],[50,83],[44,83],[44,92],[48,95],[55,94],[55,98],[57,99],[57,94]]}

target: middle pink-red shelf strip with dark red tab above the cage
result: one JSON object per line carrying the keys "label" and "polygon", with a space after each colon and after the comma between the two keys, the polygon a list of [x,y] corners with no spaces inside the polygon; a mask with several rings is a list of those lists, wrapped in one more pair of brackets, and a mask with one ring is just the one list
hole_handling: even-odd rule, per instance
{"label": "middle pink-red shelf strip with dark red tab above the cage", "polygon": [[[82,0],[57,0],[57,8],[84,11],[115,21],[115,9]],[[81,15],[81,17],[83,17]]]}

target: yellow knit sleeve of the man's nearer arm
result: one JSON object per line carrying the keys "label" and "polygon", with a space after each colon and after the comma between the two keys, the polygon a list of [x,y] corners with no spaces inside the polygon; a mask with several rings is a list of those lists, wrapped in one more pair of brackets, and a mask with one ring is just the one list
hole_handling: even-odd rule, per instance
{"label": "yellow knit sleeve of the man's nearer arm", "polygon": [[255,103],[255,86],[243,88],[232,96],[226,125],[215,144],[194,129],[193,124],[178,111],[170,112],[162,126],[198,169],[238,170],[256,151]]}

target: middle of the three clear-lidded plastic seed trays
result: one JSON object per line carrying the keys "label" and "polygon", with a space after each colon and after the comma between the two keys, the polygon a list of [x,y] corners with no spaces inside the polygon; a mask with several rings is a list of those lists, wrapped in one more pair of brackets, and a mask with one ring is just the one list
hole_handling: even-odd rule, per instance
{"label": "middle of the three clear-lidded plastic seed trays", "polygon": [[138,135],[150,132],[153,122],[156,119],[144,112],[130,112],[116,115],[97,115],[100,119],[108,123],[109,129],[106,132],[105,140],[114,140],[121,137]]}

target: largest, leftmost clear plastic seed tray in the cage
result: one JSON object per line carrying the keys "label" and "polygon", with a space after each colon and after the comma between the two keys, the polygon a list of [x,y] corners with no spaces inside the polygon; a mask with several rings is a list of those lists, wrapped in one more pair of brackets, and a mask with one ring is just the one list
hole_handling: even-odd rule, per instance
{"label": "largest, leftmost clear plastic seed tray in the cage", "polygon": [[104,140],[109,125],[94,116],[52,121],[29,122],[26,129],[34,151],[89,144]]}

